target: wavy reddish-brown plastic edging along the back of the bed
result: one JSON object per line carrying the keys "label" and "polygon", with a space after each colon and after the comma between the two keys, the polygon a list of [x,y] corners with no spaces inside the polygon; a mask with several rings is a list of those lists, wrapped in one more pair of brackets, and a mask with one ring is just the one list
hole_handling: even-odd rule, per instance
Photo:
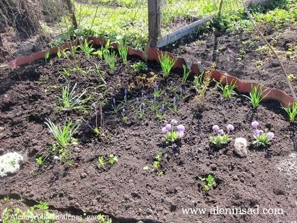
{"label": "wavy reddish-brown plastic edging along the back of the bed", "polygon": [[[92,42],[94,42],[95,45],[104,45],[107,42],[103,38],[98,38],[98,37],[90,37],[89,40],[92,40]],[[66,48],[70,48],[71,46],[77,46],[77,45],[79,45],[78,40],[75,40],[73,42],[66,42],[65,44],[63,44],[60,47],[60,49],[64,50]],[[118,43],[114,42],[111,44],[111,46],[114,47],[114,49],[118,49]],[[172,55],[172,53],[160,51],[157,48],[148,48],[148,51],[146,53],[144,53],[144,51],[140,51],[140,50],[134,49],[132,47],[128,47],[128,48],[129,48],[129,55],[137,55],[138,57],[142,58],[142,60],[144,60],[145,57],[147,57],[147,60],[155,60],[158,63],[159,63],[159,55],[166,53],[170,57],[172,57],[176,60],[173,68],[181,68],[182,69],[183,65],[186,62],[185,59],[183,59],[181,57],[175,57],[174,55]],[[58,47],[49,49],[49,55],[56,54],[57,49],[58,49]],[[33,53],[31,55],[16,58],[16,59],[10,61],[10,66],[12,69],[14,69],[14,68],[17,68],[18,66],[29,64],[36,60],[40,60],[40,59],[44,58],[44,55],[47,52],[48,51],[39,51],[39,52]],[[194,74],[200,73],[198,64],[192,64],[191,73],[194,73]],[[237,86],[237,91],[240,93],[250,92],[253,87],[259,86],[259,83],[241,81],[240,79],[237,79],[237,77],[227,75],[226,73],[224,73],[224,74],[220,73],[220,71],[218,71],[218,70],[212,71],[211,79],[215,79],[216,81],[222,81],[223,85],[226,83],[229,83],[229,84],[234,83]],[[279,103],[281,103],[284,107],[289,107],[290,104],[294,103],[294,98],[292,96],[289,96],[287,93],[285,93],[281,90],[263,87],[263,91],[268,92],[266,95],[266,98],[265,98],[266,100],[272,99],[272,100],[279,101]]]}

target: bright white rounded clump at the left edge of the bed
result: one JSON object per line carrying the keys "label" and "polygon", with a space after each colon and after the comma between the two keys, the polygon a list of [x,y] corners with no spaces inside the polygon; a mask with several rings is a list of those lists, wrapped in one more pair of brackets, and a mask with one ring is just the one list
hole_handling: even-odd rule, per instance
{"label": "bright white rounded clump at the left edge of the bed", "polygon": [[14,174],[20,170],[23,156],[16,152],[5,153],[0,156],[0,177]]}

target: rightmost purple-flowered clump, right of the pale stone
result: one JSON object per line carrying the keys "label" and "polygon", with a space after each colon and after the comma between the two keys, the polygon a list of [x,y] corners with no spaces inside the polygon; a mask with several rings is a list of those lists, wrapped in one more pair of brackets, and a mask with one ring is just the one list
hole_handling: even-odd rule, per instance
{"label": "rightmost purple-flowered clump, right of the pale stone", "polygon": [[258,129],[258,127],[259,127],[259,122],[257,122],[257,121],[252,122],[253,137],[255,139],[253,141],[253,144],[255,144],[255,146],[257,146],[257,147],[269,146],[271,141],[274,139],[274,133],[272,133],[272,132],[266,133],[263,130]]}

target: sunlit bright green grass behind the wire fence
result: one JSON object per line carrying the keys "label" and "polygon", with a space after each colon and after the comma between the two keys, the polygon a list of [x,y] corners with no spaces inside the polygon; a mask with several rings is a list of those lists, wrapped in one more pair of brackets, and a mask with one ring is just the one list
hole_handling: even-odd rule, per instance
{"label": "sunlit bright green grass behind the wire fence", "polygon": [[[188,20],[202,18],[218,12],[220,0],[164,0],[162,5],[161,36],[170,33],[171,24],[177,19]],[[96,5],[99,5],[96,11]],[[148,40],[148,10],[146,0],[90,0],[88,3],[75,3],[79,27],[90,28],[102,36],[114,41],[128,36],[127,44],[143,48]],[[297,24],[297,3],[294,0],[282,0],[270,3],[265,8],[252,8],[255,21],[263,27],[279,30],[287,25]],[[96,16],[94,17],[96,13]],[[240,1],[225,0],[222,19],[210,25],[216,25],[231,33],[252,33],[254,27],[244,13]],[[65,28],[65,24],[60,25]]]}

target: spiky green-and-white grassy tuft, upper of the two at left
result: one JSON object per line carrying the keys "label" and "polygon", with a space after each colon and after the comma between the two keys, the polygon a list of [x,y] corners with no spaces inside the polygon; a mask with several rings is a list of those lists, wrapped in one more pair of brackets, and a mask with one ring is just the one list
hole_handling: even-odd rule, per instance
{"label": "spiky green-and-white grassy tuft, upper of the two at left", "polygon": [[81,109],[84,112],[88,110],[88,106],[86,103],[90,100],[90,97],[87,99],[83,99],[83,95],[86,94],[86,90],[81,94],[75,94],[75,88],[77,84],[73,86],[70,90],[69,86],[62,88],[62,96],[58,97],[58,105],[57,109],[61,109],[64,111],[70,111],[74,109]]}

